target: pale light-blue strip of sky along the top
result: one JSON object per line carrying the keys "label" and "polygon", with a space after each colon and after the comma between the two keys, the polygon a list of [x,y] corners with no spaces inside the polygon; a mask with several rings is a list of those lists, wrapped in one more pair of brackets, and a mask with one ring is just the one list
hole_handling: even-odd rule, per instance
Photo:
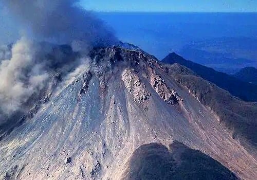
{"label": "pale light-blue strip of sky along the top", "polygon": [[81,0],[95,11],[257,12],[257,0]]}

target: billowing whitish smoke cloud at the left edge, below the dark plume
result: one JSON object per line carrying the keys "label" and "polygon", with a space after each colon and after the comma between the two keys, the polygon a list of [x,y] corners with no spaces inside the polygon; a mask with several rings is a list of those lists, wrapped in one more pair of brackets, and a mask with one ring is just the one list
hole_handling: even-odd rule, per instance
{"label": "billowing whitish smoke cloud at the left edge, below the dark plume", "polygon": [[22,38],[13,45],[11,58],[0,65],[0,102],[6,114],[15,112],[35,92],[43,88],[48,74],[43,64],[35,64],[38,45]]}

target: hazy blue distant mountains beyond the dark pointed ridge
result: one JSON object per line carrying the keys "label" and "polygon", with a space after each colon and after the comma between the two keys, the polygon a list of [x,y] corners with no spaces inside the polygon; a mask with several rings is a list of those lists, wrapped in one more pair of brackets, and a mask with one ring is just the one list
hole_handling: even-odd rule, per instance
{"label": "hazy blue distant mountains beyond the dark pointed ridge", "polygon": [[183,58],[227,74],[257,66],[256,38],[214,38],[189,43],[177,50]]}

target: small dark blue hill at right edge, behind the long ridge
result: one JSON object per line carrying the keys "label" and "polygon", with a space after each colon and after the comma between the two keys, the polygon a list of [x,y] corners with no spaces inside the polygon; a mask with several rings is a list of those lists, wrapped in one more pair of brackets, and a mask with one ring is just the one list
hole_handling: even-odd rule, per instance
{"label": "small dark blue hill at right edge, behind the long ridge", "polygon": [[257,69],[254,67],[245,67],[233,76],[242,81],[257,84]]}

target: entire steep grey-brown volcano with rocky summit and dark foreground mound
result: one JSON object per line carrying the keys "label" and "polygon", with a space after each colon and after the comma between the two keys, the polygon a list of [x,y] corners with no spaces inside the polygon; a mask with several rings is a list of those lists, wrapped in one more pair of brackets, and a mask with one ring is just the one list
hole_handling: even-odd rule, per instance
{"label": "entire steep grey-brown volcano with rocky summit and dark foreground mound", "polygon": [[89,57],[2,133],[1,179],[257,178],[256,103],[139,48]]}

